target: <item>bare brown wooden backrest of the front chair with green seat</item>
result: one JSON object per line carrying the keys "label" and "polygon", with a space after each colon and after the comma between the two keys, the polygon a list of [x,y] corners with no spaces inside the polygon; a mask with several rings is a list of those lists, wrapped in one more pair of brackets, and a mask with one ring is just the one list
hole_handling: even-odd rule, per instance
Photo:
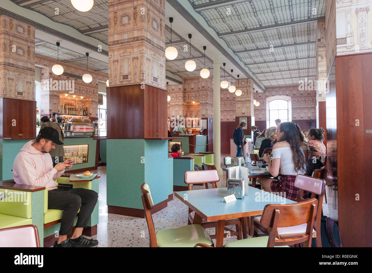
{"label": "bare brown wooden backrest of the front chair with green seat", "polygon": [[[318,200],[312,198],[294,204],[268,204],[264,207],[261,225],[269,231],[267,247],[289,246],[304,242],[304,247],[311,247],[312,227]],[[293,227],[307,224],[306,233],[276,240],[279,227]]]}

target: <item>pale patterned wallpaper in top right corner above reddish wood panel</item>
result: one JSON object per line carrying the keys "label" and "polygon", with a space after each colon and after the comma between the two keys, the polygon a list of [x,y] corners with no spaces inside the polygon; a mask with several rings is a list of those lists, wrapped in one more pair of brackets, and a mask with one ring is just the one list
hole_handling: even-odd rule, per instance
{"label": "pale patterned wallpaper in top right corner above reddish wood panel", "polygon": [[337,56],[372,51],[372,0],[336,0]]}

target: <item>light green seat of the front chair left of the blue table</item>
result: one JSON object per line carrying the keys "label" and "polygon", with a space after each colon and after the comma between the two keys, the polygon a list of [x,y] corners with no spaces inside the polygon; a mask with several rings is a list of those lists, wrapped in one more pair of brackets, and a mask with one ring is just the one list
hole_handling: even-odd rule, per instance
{"label": "light green seat of the front chair left of the blue table", "polygon": [[194,247],[197,243],[212,246],[209,234],[198,224],[160,230],[156,241],[158,247]]}

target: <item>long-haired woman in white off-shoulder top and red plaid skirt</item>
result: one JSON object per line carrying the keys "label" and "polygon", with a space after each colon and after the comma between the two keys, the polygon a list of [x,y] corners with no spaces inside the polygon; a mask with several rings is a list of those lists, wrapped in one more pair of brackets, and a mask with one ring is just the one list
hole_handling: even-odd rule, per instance
{"label": "long-haired woman in white off-shoulder top and red plaid skirt", "polygon": [[[269,171],[273,177],[278,176],[280,168],[280,180],[261,178],[261,189],[267,192],[280,192],[285,198],[296,201],[298,188],[294,186],[296,175],[305,174],[306,161],[301,141],[298,137],[296,125],[290,122],[283,122],[278,126],[278,142],[273,146],[273,162],[265,154],[263,160],[267,162]],[[302,197],[307,197],[304,192]]]}

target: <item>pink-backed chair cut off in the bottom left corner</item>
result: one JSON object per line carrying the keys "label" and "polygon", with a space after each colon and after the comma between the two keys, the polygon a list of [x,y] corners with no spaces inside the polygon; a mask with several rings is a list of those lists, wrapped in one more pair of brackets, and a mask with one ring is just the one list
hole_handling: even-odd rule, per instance
{"label": "pink-backed chair cut off in the bottom left corner", "polygon": [[36,225],[20,225],[0,229],[0,247],[40,247]]}

